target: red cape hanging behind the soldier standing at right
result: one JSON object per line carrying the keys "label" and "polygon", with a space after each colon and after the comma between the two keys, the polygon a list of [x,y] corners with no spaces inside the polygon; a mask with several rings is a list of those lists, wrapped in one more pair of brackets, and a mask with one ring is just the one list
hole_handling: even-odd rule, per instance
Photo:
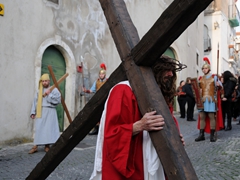
{"label": "red cape hanging behind the soldier standing at right", "polygon": [[[221,98],[220,98],[220,90],[218,90],[218,93],[217,93],[217,112],[216,112],[216,131],[219,131],[221,129],[223,129],[223,119],[222,119],[222,106],[221,106]],[[200,129],[200,116],[198,114],[198,124],[197,124],[197,128]],[[210,119],[209,117],[207,116],[206,117],[206,126],[205,126],[205,129],[204,131],[206,133],[210,133]]]}

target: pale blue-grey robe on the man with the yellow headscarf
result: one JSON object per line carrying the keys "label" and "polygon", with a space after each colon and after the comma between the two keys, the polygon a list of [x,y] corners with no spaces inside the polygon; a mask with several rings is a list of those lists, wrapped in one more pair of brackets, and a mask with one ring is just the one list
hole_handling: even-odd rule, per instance
{"label": "pale blue-grey robe on the man with the yellow headscarf", "polygon": [[[47,89],[44,88],[43,92]],[[43,93],[44,94],[44,93]],[[34,98],[31,115],[36,115],[38,93]],[[56,106],[61,102],[57,88],[42,99],[42,117],[35,120],[35,145],[53,144],[60,136]]]}

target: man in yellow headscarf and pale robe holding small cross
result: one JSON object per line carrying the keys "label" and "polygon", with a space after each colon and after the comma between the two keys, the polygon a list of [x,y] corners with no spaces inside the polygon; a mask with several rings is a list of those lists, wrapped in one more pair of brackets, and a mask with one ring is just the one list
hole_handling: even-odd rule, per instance
{"label": "man in yellow headscarf and pale robe holding small cross", "polygon": [[[48,152],[49,145],[56,142],[60,136],[56,106],[61,103],[61,94],[57,88],[49,88],[50,78],[43,74],[39,80],[39,90],[34,98],[31,118],[35,119],[34,146],[29,151],[33,154],[38,151],[38,145],[44,145]],[[43,97],[43,94],[46,96]]]}

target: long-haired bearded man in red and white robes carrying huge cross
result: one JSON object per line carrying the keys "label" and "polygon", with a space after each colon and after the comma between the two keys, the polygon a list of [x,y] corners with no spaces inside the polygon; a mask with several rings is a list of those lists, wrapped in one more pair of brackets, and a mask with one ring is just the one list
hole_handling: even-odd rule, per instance
{"label": "long-haired bearded man in red and white robes carrying huge cross", "polygon": [[[164,55],[152,67],[171,113],[176,92],[176,71],[185,67]],[[163,167],[148,134],[148,131],[163,128],[164,118],[157,115],[156,111],[149,110],[141,116],[129,81],[114,86],[102,113],[94,171],[90,179],[165,179]],[[184,144],[181,134],[179,141]]]}

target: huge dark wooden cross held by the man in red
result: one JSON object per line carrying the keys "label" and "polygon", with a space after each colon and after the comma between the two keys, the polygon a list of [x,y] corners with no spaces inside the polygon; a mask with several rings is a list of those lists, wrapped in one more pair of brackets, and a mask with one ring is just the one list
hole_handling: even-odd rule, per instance
{"label": "huge dark wooden cross held by the man in red", "polygon": [[150,68],[212,0],[175,0],[140,40],[123,0],[99,0],[122,63],[79,112],[27,179],[45,179],[99,121],[109,90],[128,79],[145,114],[155,109],[165,127],[150,137],[169,180],[198,179]]}

